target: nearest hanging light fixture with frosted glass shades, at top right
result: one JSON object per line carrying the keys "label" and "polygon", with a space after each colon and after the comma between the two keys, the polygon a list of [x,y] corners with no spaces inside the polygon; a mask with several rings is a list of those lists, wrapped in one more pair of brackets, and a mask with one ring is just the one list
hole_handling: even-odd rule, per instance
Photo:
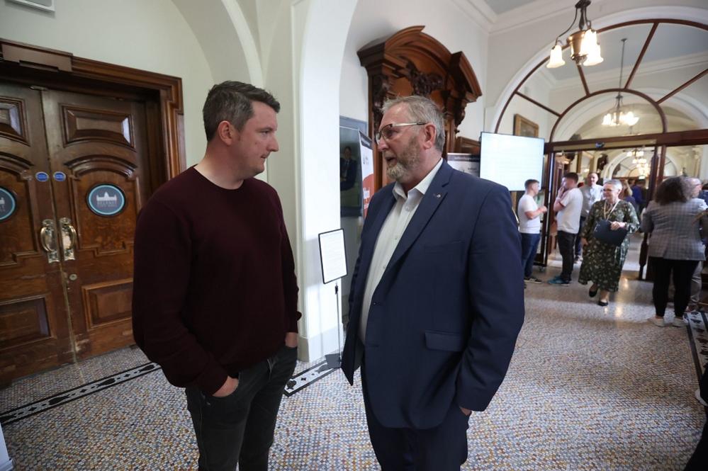
{"label": "nearest hanging light fixture with frosted glass shades, at top right", "polygon": [[597,43],[597,31],[592,29],[592,22],[588,19],[588,6],[590,0],[580,0],[575,4],[575,18],[573,23],[567,30],[559,34],[551,48],[551,57],[549,58],[546,67],[555,69],[561,67],[566,62],[563,60],[563,46],[561,45],[561,36],[568,33],[573,28],[575,20],[578,19],[580,13],[580,21],[578,21],[578,31],[568,36],[567,43],[571,46],[571,59],[578,65],[595,65],[602,62],[600,54],[600,45]]}

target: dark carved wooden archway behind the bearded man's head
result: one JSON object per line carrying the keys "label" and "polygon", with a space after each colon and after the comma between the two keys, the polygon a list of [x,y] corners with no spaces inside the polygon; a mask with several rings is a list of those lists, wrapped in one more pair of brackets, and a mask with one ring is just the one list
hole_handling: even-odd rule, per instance
{"label": "dark carved wooden archway behind the bearded man's head", "polygon": [[[463,52],[452,54],[438,40],[422,33],[423,28],[405,28],[359,50],[361,65],[369,74],[369,135],[373,136],[378,130],[381,106],[386,98],[428,96],[443,110],[447,153],[454,149],[467,103],[476,101],[482,91]],[[374,181],[378,190],[386,183],[386,172],[376,149],[374,156]]]}

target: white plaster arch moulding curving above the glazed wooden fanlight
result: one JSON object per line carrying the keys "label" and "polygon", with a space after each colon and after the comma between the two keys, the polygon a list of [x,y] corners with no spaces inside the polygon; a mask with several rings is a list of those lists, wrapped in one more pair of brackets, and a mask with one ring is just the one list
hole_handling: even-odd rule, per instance
{"label": "white plaster arch moulding curving above the glazed wooden fanlight", "polygon": [[[675,19],[708,24],[708,10],[691,6],[649,6],[646,8],[634,8],[597,18],[592,21],[592,26],[596,29],[602,29],[607,26],[624,23],[625,21],[651,19]],[[534,67],[536,67],[536,64],[548,57],[550,50],[549,48],[552,41],[553,38],[549,37],[549,46],[546,47],[544,45],[544,47],[539,50],[536,55],[524,63],[507,86],[505,86],[498,100],[494,104],[492,120],[489,123],[492,130],[502,115],[502,108],[504,107],[504,104],[510,98],[517,86],[519,86],[524,77],[527,76],[527,74],[529,74]],[[544,66],[541,65],[541,67]]]}

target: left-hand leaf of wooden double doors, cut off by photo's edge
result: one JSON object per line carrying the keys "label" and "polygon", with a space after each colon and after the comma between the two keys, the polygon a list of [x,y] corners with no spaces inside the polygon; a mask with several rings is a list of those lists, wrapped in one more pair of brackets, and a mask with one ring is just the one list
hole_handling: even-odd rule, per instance
{"label": "left-hand leaf of wooden double doors, cut off by photo's edge", "polygon": [[[72,359],[40,92],[0,83],[0,383]],[[45,222],[45,224],[43,224]],[[43,226],[47,227],[44,229]],[[43,232],[44,237],[40,237]]]}

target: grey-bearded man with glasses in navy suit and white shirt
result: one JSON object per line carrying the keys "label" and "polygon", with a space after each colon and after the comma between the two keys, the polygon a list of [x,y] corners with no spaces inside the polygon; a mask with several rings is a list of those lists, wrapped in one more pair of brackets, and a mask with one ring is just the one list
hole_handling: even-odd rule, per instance
{"label": "grey-bearded man with glasses in navy suit and white shirt", "polygon": [[395,180],[371,200],[349,297],[342,370],[361,365],[366,421],[388,470],[459,470],[471,411],[500,386],[524,319],[507,188],[442,159],[442,113],[387,102],[376,140]]}

